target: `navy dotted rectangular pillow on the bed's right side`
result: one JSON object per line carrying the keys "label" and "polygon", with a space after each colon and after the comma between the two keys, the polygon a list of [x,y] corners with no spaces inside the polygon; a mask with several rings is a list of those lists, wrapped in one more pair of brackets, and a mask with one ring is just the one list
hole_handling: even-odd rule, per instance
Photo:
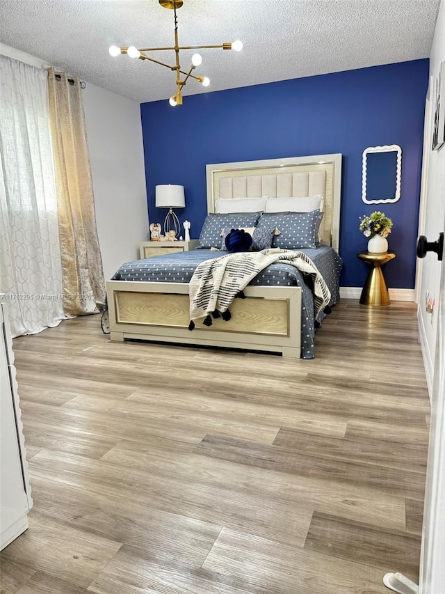
{"label": "navy dotted rectangular pillow on the bed's right side", "polygon": [[272,247],[282,249],[316,248],[318,240],[316,229],[319,225],[320,211],[312,212],[276,212],[261,214],[258,227],[280,229],[280,235],[275,235]]}

